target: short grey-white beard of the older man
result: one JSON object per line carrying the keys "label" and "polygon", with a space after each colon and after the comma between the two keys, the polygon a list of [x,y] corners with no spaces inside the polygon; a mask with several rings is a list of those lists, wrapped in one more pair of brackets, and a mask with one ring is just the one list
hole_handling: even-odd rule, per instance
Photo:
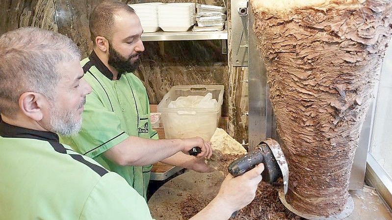
{"label": "short grey-white beard of the older man", "polygon": [[[86,103],[86,98],[80,102],[78,109],[81,108]],[[54,103],[52,103],[52,113],[49,122],[50,131],[57,133],[62,136],[75,135],[79,132],[81,128],[82,119],[76,121],[78,109],[68,109],[67,111],[62,111],[62,109],[56,108]]]}

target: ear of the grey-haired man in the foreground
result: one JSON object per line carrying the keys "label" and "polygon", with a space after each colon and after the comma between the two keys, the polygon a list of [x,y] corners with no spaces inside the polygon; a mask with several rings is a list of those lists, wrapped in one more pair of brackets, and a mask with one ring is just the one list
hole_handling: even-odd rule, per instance
{"label": "ear of the grey-haired man in the foreground", "polygon": [[19,108],[22,113],[34,121],[41,121],[44,117],[43,107],[48,105],[46,98],[39,93],[26,92],[19,97]]}

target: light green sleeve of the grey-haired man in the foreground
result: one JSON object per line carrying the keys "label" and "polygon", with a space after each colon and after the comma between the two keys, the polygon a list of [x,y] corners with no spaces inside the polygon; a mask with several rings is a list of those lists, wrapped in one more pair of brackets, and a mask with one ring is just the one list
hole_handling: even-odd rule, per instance
{"label": "light green sleeve of the grey-haired man in the foreground", "polygon": [[109,172],[88,196],[79,220],[152,220],[146,200],[122,177]]}

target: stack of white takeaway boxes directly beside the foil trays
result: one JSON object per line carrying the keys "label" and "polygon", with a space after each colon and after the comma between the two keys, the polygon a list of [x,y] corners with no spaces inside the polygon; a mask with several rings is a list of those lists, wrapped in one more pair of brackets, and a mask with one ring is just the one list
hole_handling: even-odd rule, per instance
{"label": "stack of white takeaway boxes directly beside the foil trays", "polygon": [[195,3],[167,3],[158,5],[158,21],[163,31],[187,31],[195,24]]}

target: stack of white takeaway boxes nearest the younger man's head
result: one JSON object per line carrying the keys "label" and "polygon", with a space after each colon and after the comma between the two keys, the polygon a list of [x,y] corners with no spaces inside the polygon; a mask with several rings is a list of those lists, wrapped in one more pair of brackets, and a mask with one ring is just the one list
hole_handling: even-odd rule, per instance
{"label": "stack of white takeaway boxes nearest the younger man's head", "polygon": [[163,3],[151,2],[129,4],[129,6],[135,10],[136,15],[139,17],[144,33],[152,33],[159,30],[158,6],[161,4]]}

